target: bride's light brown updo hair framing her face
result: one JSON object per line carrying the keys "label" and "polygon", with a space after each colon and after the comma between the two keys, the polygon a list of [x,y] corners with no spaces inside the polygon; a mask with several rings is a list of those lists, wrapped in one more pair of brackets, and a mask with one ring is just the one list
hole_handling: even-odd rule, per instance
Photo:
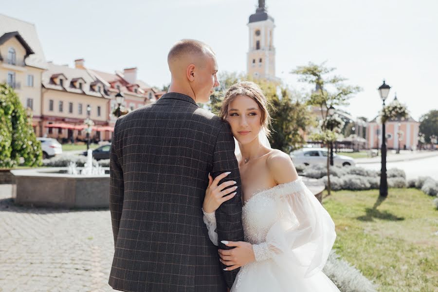
{"label": "bride's light brown updo hair framing her face", "polygon": [[225,92],[225,96],[223,98],[222,106],[220,107],[219,117],[222,120],[225,120],[228,116],[228,106],[230,103],[239,95],[246,95],[252,98],[258,105],[261,111],[260,117],[260,126],[263,131],[266,133],[266,136],[270,136],[271,130],[269,129],[271,126],[271,115],[269,114],[269,107],[271,103],[266,99],[266,96],[263,94],[263,91],[260,87],[251,81],[241,81],[236,84],[233,84],[227,92]]}

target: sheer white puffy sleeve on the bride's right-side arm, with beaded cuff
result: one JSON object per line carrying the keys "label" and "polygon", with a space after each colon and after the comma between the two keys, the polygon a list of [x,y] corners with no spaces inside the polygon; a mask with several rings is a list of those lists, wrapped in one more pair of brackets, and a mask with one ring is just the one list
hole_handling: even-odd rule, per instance
{"label": "sheer white puffy sleeve on the bride's right-side arm, with beaded cuff", "polygon": [[253,245],[256,261],[271,258],[280,267],[309,277],[327,262],[336,238],[333,220],[301,178],[275,188],[279,219],[266,241]]}

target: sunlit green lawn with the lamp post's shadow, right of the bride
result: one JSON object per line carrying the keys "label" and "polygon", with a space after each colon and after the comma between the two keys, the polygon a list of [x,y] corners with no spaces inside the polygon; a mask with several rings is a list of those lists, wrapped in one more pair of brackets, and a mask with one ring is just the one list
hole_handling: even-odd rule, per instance
{"label": "sunlit green lawn with the lamp post's shadow, right of the bride", "polygon": [[[327,195],[327,193],[325,194]],[[417,189],[337,191],[323,199],[336,252],[382,292],[438,291],[438,210]]]}

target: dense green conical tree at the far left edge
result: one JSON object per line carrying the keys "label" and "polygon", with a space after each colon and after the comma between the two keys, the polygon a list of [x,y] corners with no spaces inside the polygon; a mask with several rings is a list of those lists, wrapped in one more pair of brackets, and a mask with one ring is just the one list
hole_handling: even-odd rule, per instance
{"label": "dense green conical tree at the far left edge", "polygon": [[41,144],[18,95],[0,84],[0,167],[14,167],[23,159],[26,166],[41,165]]}

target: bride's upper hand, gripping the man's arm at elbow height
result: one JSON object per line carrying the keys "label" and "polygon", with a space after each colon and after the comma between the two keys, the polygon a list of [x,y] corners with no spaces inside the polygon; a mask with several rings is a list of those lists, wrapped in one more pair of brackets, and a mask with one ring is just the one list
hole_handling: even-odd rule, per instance
{"label": "bride's upper hand, gripping the man's arm at elbow height", "polygon": [[[222,204],[224,201],[230,200],[236,195],[235,190],[237,189],[237,186],[227,188],[230,185],[236,184],[235,181],[228,181],[218,185],[220,180],[224,179],[230,173],[231,172],[224,172],[218,175],[214,180],[212,176],[208,174],[208,187],[205,191],[204,203],[202,204],[202,209],[205,213],[215,212],[219,208],[220,204]],[[234,193],[230,194],[231,192]]]}

